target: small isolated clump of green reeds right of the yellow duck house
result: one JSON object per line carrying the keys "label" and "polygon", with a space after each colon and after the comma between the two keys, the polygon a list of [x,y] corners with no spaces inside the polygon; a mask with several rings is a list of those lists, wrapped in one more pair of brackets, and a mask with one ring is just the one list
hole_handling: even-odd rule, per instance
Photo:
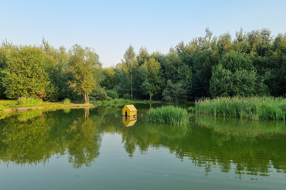
{"label": "small isolated clump of green reeds right of the yellow duck house", "polygon": [[147,111],[147,117],[154,122],[180,125],[188,123],[190,115],[186,109],[170,105],[150,108]]}

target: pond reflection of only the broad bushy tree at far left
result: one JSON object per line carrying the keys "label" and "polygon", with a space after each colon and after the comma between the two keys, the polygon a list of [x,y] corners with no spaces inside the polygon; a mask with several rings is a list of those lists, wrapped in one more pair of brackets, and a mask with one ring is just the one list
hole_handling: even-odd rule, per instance
{"label": "pond reflection of only the broad bushy tree at far left", "polygon": [[53,119],[20,121],[11,116],[1,121],[0,157],[8,166],[46,163],[55,152],[60,152],[56,140],[50,138]]}

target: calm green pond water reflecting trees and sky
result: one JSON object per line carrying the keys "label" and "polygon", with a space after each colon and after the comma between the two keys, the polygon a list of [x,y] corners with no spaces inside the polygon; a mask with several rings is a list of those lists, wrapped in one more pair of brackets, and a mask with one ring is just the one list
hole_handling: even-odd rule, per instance
{"label": "calm green pond water reflecting trees and sky", "polygon": [[0,189],[285,190],[285,121],[194,114],[169,126],[134,105],[136,118],[113,106],[1,119]]}

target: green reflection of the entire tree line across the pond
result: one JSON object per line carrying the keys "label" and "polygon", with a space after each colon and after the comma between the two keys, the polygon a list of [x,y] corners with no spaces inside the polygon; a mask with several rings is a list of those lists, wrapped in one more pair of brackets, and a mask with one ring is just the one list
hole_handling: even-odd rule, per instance
{"label": "green reflection of the entire tree line across the pond", "polygon": [[[149,107],[136,105],[142,113]],[[121,135],[130,158],[136,149],[147,154],[150,148],[164,147],[182,162],[204,167],[206,176],[214,168],[223,173],[234,169],[239,179],[269,176],[271,167],[286,173],[285,121],[194,115],[194,125],[171,126],[115,114],[120,114],[117,107],[12,115],[1,120],[0,160],[7,166],[33,166],[67,156],[74,168],[91,166],[100,156],[102,138],[110,133]]]}

